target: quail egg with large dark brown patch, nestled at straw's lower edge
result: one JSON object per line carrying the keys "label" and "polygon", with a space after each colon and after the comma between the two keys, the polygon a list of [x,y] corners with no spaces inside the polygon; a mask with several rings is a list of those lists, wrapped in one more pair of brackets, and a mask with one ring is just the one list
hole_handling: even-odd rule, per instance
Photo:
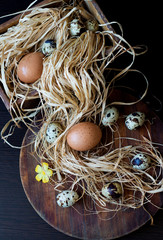
{"label": "quail egg with large dark brown patch, nestled at straw's lower edge", "polygon": [[102,195],[107,199],[116,199],[122,195],[122,187],[119,182],[110,182],[103,186]]}

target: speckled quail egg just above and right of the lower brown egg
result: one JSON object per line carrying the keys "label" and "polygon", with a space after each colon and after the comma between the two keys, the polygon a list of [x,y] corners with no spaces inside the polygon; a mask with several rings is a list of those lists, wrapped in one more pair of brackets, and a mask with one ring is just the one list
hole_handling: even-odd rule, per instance
{"label": "speckled quail egg just above and right of the lower brown egg", "polygon": [[102,119],[102,124],[108,126],[115,123],[119,118],[119,111],[115,107],[107,107],[104,111],[104,117]]}

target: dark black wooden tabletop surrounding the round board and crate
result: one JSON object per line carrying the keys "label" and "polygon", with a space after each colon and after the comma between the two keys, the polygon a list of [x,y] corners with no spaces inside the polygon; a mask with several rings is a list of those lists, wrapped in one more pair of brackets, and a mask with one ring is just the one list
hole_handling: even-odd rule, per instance
{"label": "dark black wooden tabletop surrounding the round board and crate", "polygon": [[[39,2],[39,1],[38,1]],[[160,105],[154,96],[163,101],[163,40],[162,4],[158,1],[97,1],[109,21],[118,21],[124,30],[124,38],[131,44],[148,46],[145,55],[138,56],[134,68],[141,70],[149,80],[150,91],[145,101],[157,110]],[[0,1],[0,16],[25,9],[30,0]],[[3,23],[8,18],[0,19]],[[131,79],[132,80],[132,79]],[[142,88],[141,82],[135,84]],[[163,119],[163,110],[157,114]],[[0,101],[0,129],[10,119],[10,115]],[[20,129],[11,142],[20,146],[25,129]],[[136,232],[121,239],[163,239],[163,213],[154,217],[154,226],[147,223]],[[31,207],[23,191],[19,176],[19,149],[10,148],[0,141],[0,240],[52,240],[74,239],[66,236],[44,222]]]}

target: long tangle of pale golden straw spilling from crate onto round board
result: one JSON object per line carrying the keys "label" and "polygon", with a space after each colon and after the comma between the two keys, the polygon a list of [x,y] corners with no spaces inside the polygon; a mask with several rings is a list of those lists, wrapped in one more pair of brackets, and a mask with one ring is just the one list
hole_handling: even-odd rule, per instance
{"label": "long tangle of pale golden straw spilling from crate onto round board", "polygon": [[[101,186],[118,181],[124,190],[123,196],[111,203],[138,208],[150,201],[152,194],[163,190],[163,161],[151,141],[144,139],[135,146],[119,145],[113,149],[113,138],[110,143],[103,141],[87,152],[72,150],[66,143],[67,133],[74,124],[81,121],[101,124],[104,109],[111,104],[107,99],[112,85],[127,73],[136,55],[122,34],[104,31],[102,25],[96,32],[84,30],[80,36],[71,37],[70,22],[75,18],[83,26],[87,20],[94,19],[82,5],[37,7],[0,36],[0,80],[10,99],[12,120],[16,124],[23,121],[31,129],[33,117],[38,111],[42,112],[43,124],[35,133],[34,150],[56,173],[56,178],[51,179],[55,190],[64,189],[69,179],[70,189],[78,186],[82,196],[90,196],[97,205],[111,211],[107,205],[110,200],[102,196]],[[40,51],[46,39],[54,39],[56,48],[44,58],[41,78],[33,84],[22,83],[17,77],[20,59],[29,52]],[[124,54],[130,56],[130,62],[106,81],[106,69]],[[26,101],[34,99],[39,99],[38,106],[24,107]],[[45,140],[51,122],[59,122],[63,127],[54,144]],[[136,171],[130,166],[129,159],[140,152],[152,158],[152,171]]]}

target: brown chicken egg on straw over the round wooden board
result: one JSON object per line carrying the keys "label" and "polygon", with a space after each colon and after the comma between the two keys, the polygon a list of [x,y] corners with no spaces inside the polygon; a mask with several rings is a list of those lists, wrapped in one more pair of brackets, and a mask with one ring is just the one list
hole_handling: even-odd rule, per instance
{"label": "brown chicken egg on straw over the round wooden board", "polygon": [[81,122],[70,128],[67,143],[74,150],[87,151],[94,148],[101,137],[102,132],[99,126],[92,122]]}

